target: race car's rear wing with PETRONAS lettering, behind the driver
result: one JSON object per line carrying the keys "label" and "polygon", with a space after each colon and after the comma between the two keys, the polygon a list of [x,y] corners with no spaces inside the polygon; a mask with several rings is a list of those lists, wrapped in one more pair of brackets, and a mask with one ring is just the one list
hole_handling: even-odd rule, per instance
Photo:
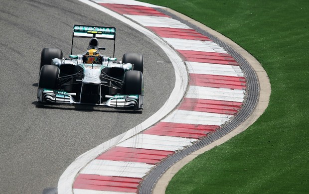
{"label": "race car's rear wing with PETRONAS lettering, behind the driver", "polygon": [[115,57],[115,40],[116,40],[116,28],[104,27],[104,26],[90,26],[90,25],[74,25],[72,34],[71,54],[73,51],[73,39],[79,38],[97,38],[114,40],[114,56]]}

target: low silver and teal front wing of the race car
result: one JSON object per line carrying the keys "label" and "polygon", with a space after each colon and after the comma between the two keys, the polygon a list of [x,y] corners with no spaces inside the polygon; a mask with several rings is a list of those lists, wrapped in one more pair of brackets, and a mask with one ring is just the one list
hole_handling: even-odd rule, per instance
{"label": "low silver and teal front wing of the race car", "polygon": [[[49,90],[43,88],[37,89],[38,102],[89,104],[75,101],[73,98],[73,96],[75,95],[76,95],[75,93],[67,93],[65,91]],[[109,99],[102,103],[94,103],[92,105],[109,106],[117,108],[143,109],[144,95],[115,95],[106,97]]]}

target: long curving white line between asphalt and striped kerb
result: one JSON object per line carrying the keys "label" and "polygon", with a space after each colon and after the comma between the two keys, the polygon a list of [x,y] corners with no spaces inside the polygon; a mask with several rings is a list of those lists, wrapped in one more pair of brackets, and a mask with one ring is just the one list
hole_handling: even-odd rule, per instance
{"label": "long curving white line between asphalt and striped kerb", "polygon": [[98,155],[109,149],[110,147],[120,143],[135,134],[141,132],[142,130],[152,126],[166,114],[172,111],[172,109],[180,102],[184,93],[186,91],[187,83],[188,83],[188,76],[186,72],[185,65],[182,59],[178,56],[175,50],[173,50],[166,42],[164,42],[161,38],[156,36],[150,30],[140,26],[139,24],[133,22],[132,20],[115,13],[105,7],[102,7],[92,1],[89,0],[80,0],[94,8],[103,11],[116,19],[121,20],[124,23],[127,23],[131,27],[139,30],[147,37],[151,38],[161,49],[166,53],[169,57],[175,71],[175,87],[171,92],[170,97],[164,103],[164,105],[152,115],[150,118],[145,120],[143,123],[137,125],[136,127],[130,129],[129,131],[114,137],[113,139],[102,143],[101,145],[89,150],[88,152],[79,156],[75,161],[64,171],[58,181],[58,194],[73,194],[72,185],[75,180],[75,176],[77,173],[84,168],[89,162],[95,159]]}

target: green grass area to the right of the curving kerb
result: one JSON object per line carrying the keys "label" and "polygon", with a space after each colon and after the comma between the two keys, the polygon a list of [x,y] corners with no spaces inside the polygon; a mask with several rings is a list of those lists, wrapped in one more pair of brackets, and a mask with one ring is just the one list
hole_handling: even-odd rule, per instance
{"label": "green grass area to the right of the curving kerb", "polygon": [[182,168],[166,193],[309,193],[309,0],[143,1],[231,38],[257,58],[272,86],[264,114]]}

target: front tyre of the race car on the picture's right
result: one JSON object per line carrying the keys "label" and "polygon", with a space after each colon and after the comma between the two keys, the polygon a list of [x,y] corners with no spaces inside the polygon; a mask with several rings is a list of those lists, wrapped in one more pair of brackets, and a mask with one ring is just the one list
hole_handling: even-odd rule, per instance
{"label": "front tyre of the race car on the picture's right", "polygon": [[125,95],[143,95],[143,73],[140,71],[127,71],[124,76],[123,93]]}

